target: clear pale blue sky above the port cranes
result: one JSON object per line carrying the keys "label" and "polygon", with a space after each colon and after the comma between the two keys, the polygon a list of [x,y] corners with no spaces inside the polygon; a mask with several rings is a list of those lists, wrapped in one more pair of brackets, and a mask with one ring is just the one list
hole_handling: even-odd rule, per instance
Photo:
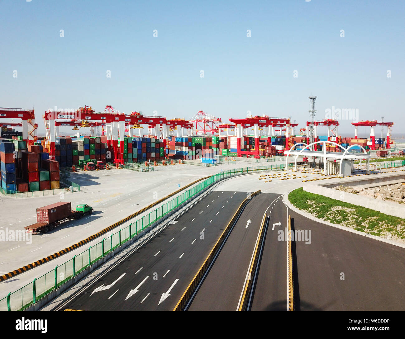
{"label": "clear pale blue sky above the port cranes", "polygon": [[404,1],[0,0],[0,13],[0,106],[34,107],[39,133],[48,108],[107,104],[167,118],[291,115],[304,127],[311,94],[315,119],[358,108],[402,131]]}

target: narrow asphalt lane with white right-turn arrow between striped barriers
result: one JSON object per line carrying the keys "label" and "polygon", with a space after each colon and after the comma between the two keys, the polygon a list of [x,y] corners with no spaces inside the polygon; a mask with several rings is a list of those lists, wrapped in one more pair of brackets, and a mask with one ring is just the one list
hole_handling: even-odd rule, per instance
{"label": "narrow asphalt lane with white right-turn arrow between striped barriers", "polygon": [[[285,232],[288,215],[280,195],[272,194],[271,201],[274,199],[277,200],[267,212],[269,228],[258,265],[251,311],[287,311],[287,242],[277,238],[279,231]],[[275,225],[273,230],[273,224],[279,222],[281,225]]]}

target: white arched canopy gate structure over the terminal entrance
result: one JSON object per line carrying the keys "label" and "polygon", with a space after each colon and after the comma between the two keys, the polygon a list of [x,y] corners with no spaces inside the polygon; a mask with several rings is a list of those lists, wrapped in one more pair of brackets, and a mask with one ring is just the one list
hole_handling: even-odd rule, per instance
{"label": "white arched canopy gate structure over the terminal entrance", "polygon": [[[323,144],[323,151],[313,151],[311,146],[315,144]],[[326,152],[326,144],[333,144],[335,146],[338,146],[342,149],[342,152]],[[294,148],[298,145],[303,145],[303,149],[301,150],[295,150]],[[363,150],[363,153],[352,153],[349,152],[350,148],[354,147],[360,147]],[[288,156],[290,155],[295,155],[294,158],[294,170],[297,170],[297,159],[299,156],[303,157],[320,157],[324,158],[324,174],[327,174],[327,160],[340,160],[339,163],[339,176],[343,176],[342,174],[342,162],[343,160],[359,160],[361,159],[367,159],[367,169],[366,173],[369,174],[369,157],[370,155],[367,153],[367,151],[360,145],[352,145],[347,148],[344,148],[343,146],[337,144],[336,142],[333,141],[317,141],[313,142],[312,144],[305,144],[304,142],[300,142],[298,144],[295,144],[290,148],[288,151],[285,152],[287,154],[286,156],[286,170],[288,169]]]}

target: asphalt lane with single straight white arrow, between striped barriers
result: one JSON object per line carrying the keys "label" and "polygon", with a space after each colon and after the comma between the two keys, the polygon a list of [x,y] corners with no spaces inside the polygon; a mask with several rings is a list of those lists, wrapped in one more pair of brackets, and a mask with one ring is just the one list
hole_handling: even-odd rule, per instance
{"label": "asphalt lane with single straight white arrow, between striped barriers", "polygon": [[[264,210],[273,194],[260,193],[243,210],[205,280],[190,304],[189,311],[236,311]],[[249,224],[247,221],[250,220]]]}

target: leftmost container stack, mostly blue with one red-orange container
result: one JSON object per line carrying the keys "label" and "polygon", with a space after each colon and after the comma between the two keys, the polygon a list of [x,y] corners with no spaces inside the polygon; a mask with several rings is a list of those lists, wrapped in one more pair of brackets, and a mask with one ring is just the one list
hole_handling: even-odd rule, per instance
{"label": "leftmost container stack, mostly blue with one red-orange container", "polygon": [[1,186],[7,193],[17,191],[14,151],[15,148],[13,142],[0,142]]}

